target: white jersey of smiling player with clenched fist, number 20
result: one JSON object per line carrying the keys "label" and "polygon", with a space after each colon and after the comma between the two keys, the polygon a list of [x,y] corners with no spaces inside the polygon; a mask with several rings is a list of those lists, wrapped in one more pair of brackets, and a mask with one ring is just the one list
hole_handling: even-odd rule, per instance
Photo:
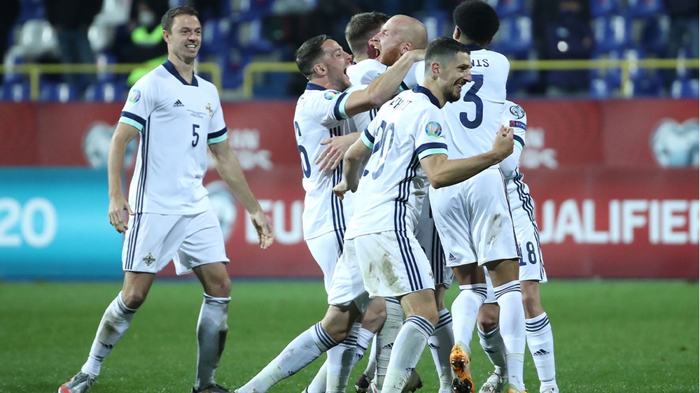
{"label": "white jersey of smiling player with clenched fist, number 20", "polygon": [[447,155],[443,122],[437,98],[421,86],[381,106],[360,136],[372,155],[360,178],[347,239],[382,231],[414,234],[428,193],[420,160]]}

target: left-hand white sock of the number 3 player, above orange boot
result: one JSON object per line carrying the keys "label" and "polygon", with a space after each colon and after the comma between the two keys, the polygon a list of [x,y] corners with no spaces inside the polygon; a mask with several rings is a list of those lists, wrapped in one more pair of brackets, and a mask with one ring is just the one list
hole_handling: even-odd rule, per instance
{"label": "left-hand white sock of the number 3 player, above orange boot", "polygon": [[484,300],[486,300],[486,284],[472,284],[460,285],[459,294],[452,302],[454,342],[461,343],[469,355],[472,354],[469,343],[472,341],[479,308],[484,304]]}

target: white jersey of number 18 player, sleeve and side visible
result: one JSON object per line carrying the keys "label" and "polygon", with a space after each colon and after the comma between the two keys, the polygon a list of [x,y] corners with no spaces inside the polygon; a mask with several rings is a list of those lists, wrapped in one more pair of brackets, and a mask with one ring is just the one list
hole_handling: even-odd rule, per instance
{"label": "white jersey of number 18 player, sleeve and side visible", "polygon": [[514,150],[512,155],[500,163],[508,190],[508,201],[516,229],[521,225],[530,225],[535,221],[534,201],[530,197],[530,188],[523,182],[519,171],[519,159],[525,146],[527,115],[517,103],[505,101],[501,124],[513,129]]}

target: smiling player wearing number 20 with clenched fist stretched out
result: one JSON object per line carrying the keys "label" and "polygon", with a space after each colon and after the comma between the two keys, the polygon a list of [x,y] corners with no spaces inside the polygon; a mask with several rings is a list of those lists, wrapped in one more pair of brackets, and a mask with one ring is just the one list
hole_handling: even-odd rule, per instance
{"label": "smiling player wearing number 20 with clenched fist stretched out", "polygon": [[[399,334],[395,343],[398,350],[392,359],[398,360],[394,368],[390,362],[384,392],[398,393],[405,385],[411,367],[403,366],[402,362],[415,366],[437,323],[430,266],[413,236],[422,196],[427,189],[425,173],[439,187],[468,178],[512,152],[512,137],[509,137],[512,134],[502,128],[494,142],[493,152],[456,162],[447,161],[439,108],[446,96],[449,99],[458,98],[461,86],[469,78],[470,67],[463,45],[451,39],[449,41],[449,48],[442,48],[438,43],[435,54],[430,57],[435,59],[430,63],[433,65],[430,67],[430,85],[435,93],[427,89],[408,91],[391,103],[386,103],[383,108],[386,108],[387,117],[382,117],[380,110],[368,127],[372,131],[364,131],[363,138],[354,143],[345,155],[344,176],[352,176],[352,179],[349,182],[344,179],[334,187],[334,192],[339,195],[356,189],[358,169],[363,158],[372,152],[367,144],[372,145],[372,139],[384,141],[377,143],[379,152],[367,162],[365,172],[371,173],[371,176],[363,178],[366,186],[358,191],[358,200],[363,203],[356,206],[356,214],[346,232],[343,254],[335,268],[328,295],[330,307],[325,317],[297,336],[258,376],[237,392],[267,392],[279,380],[293,375],[321,353],[343,341],[353,322],[370,302],[370,296],[398,296],[409,315],[402,327],[403,334]],[[445,59],[449,59],[449,62]],[[440,68],[440,64],[444,69]],[[440,99],[435,94],[439,94]],[[386,124],[386,120],[391,125]],[[393,122],[406,123],[405,127],[401,125],[404,123],[395,127]],[[391,134],[390,140],[384,134],[387,130]],[[392,159],[388,160],[390,155]],[[419,162],[426,167],[426,172],[420,169]],[[384,176],[381,176],[382,172]],[[379,181],[374,181],[380,176]],[[372,195],[366,196],[365,192]],[[374,192],[379,194],[375,196]],[[386,251],[377,253],[376,249],[368,247],[368,243],[374,243],[372,247],[386,245]]]}

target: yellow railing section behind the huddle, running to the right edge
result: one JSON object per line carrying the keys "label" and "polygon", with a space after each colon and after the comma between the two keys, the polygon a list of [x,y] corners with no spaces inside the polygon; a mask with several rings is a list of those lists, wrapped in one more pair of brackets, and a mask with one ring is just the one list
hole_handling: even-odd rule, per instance
{"label": "yellow railing section behind the huddle, running to the right edge", "polygon": [[[630,73],[635,68],[640,69],[675,69],[677,67],[698,68],[699,59],[640,59],[640,60],[514,60],[510,62],[512,70],[580,70],[580,69],[620,69],[622,71],[622,83],[620,88],[624,97],[631,97]],[[299,72],[293,62],[267,63],[254,62],[248,64],[243,76],[243,95],[250,99],[253,97],[253,78],[255,73],[266,72]]]}

